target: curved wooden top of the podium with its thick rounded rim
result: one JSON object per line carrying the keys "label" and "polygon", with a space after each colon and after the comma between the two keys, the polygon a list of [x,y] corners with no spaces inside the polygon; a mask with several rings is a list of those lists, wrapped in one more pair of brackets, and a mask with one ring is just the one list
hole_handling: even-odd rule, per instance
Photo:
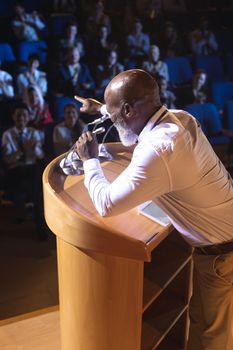
{"label": "curved wooden top of the podium with its thick rounded rim", "polygon": [[[129,164],[131,155],[119,143],[107,145],[111,161],[102,161],[111,182]],[[172,226],[163,227],[133,208],[113,217],[101,217],[84,186],[84,175],[66,176],[58,171],[63,156],[54,159],[43,174],[45,218],[61,239],[84,250],[150,261],[151,251]]]}

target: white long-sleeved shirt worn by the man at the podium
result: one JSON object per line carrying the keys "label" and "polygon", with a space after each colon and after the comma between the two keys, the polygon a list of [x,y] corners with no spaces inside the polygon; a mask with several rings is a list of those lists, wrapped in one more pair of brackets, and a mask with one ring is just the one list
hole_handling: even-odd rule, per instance
{"label": "white long-sleeved shirt worn by the man at the podium", "polygon": [[194,246],[233,239],[233,181],[190,114],[166,108],[139,135],[128,167],[109,183],[98,159],[84,162],[85,185],[102,216],[152,200]]}

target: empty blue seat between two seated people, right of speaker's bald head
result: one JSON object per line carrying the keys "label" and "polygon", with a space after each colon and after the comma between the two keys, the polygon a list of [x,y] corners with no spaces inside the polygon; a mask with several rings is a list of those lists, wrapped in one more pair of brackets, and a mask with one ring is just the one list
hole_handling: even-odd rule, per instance
{"label": "empty blue seat between two seated people, right of speaker's bald head", "polygon": [[192,79],[193,72],[188,58],[168,57],[164,61],[167,63],[170,82],[173,85],[184,84]]}

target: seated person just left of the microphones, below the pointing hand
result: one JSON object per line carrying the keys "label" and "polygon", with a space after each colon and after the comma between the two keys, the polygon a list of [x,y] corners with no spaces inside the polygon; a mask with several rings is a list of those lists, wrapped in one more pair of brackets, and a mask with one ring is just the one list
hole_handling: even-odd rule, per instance
{"label": "seated person just left of the microphones, below the pointing hand", "polygon": [[64,107],[64,121],[53,130],[53,148],[55,155],[67,152],[77,141],[84,130],[85,124],[79,119],[79,111],[75,104]]}

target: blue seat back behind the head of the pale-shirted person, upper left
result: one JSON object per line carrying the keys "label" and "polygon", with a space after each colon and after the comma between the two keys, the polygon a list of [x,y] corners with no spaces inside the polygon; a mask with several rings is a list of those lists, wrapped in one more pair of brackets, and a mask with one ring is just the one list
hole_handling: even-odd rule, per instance
{"label": "blue seat back behind the head of the pale-shirted person, upper left", "polygon": [[22,41],[18,44],[18,59],[21,62],[27,62],[28,56],[35,53],[40,58],[41,64],[46,64],[47,62],[47,44],[43,40],[39,41]]}

